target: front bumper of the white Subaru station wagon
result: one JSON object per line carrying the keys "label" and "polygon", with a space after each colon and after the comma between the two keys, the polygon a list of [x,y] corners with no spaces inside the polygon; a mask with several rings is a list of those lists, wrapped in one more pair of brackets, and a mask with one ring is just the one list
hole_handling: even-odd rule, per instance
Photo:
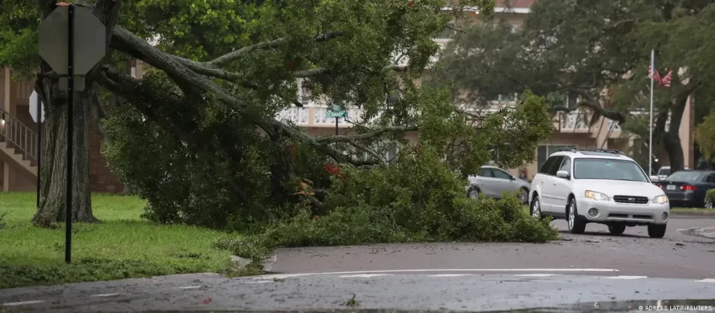
{"label": "front bumper of the white Subaru station wagon", "polygon": [[[576,198],[578,215],[589,222],[631,222],[636,224],[666,224],[670,219],[670,204],[617,203],[613,199],[596,201],[586,197]],[[591,216],[589,210],[596,209],[596,216]],[[664,218],[665,214],[665,218]]]}

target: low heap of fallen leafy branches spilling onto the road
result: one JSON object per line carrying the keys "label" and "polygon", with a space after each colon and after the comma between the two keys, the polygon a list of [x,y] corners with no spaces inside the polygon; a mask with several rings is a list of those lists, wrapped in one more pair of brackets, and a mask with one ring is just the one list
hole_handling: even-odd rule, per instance
{"label": "low heap of fallen leafy branches spilling onto the road", "polygon": [[[222,237],[214,245],[261,259],[275,247],[378,242],[546,242],[558,238],[550,220],[537,220],[513,194],[499,201],[468,199],[462,182],[429,149],[391,167],[347,169],[337,179],[325,216],[307,207],[292,219],[242,239]],[[350,205],[352,204],[352,205]]]}

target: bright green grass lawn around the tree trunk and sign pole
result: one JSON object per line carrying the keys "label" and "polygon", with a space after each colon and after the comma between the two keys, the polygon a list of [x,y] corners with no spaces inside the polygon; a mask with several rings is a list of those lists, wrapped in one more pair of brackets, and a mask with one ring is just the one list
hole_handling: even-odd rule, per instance
{"label": "bright green grass lawn around the tree trunk and sign pole", "polygon": [[220,272],[230,253],[211,247],[220,232],[139,218],[136,197],[92,196],[97,224],[73,224],[72,263],[64,263],[64,224],[34,227],[34,193],[0,193],[0,289],[30,285]]}

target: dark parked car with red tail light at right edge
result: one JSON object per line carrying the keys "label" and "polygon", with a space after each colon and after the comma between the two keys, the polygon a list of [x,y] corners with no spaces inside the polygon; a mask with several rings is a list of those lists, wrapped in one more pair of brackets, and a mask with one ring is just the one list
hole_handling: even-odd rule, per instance
{"label": "dark parked car with red tail light at right edge", "polygon": [[656,182],[661,187],[672,207],[706,207],[705,193],[715,188],[714,171],[679,171],[670,174],[664,181]]}

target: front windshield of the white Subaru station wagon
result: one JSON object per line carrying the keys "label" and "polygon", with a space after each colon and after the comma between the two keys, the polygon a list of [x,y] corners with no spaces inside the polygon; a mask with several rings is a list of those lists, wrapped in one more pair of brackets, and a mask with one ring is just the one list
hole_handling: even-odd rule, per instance
{"label": "front windshield of the white Subaru station wagon", "polygon": [[649,182],[636,162],[615,159],[578,158],[573,162],[573,178]]}

